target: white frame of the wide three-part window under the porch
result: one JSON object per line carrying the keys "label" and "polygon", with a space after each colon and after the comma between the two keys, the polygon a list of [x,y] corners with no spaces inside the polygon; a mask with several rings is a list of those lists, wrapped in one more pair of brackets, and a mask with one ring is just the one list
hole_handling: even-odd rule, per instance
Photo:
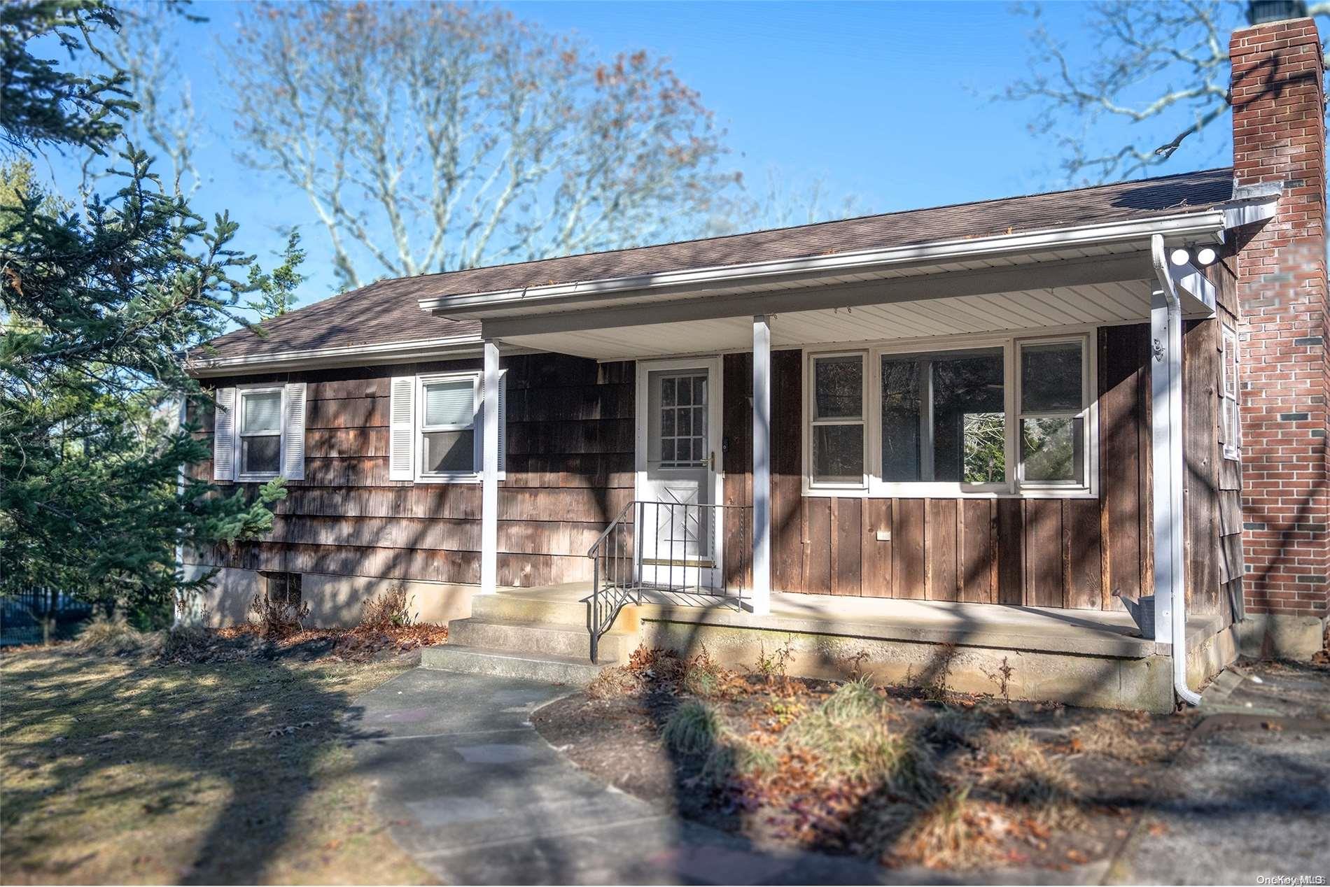
{"label": "white frame of the wide three-part window under the porch", "polygon": [[[868,343],[861,350],[803,350],[803,479],[805,496],[853,496],[870,499],[1093,499],[1099,496],[1099,404],[1097,354],[1093,347],[1096,327],[1075,332],[1040,335],[947,336]],[[1019,475],[1020,448],[1020,347],[1024,344],[1081,343],[1081,403],[1084,419],[1085,484],[1067,481],[1023,484]],[[964,484],[956,481],[887,481],[882,479],[882,358],[895,354],[942,354],[983,348],[1003,350],[1003,395],[1005,403],[1007,480],[999,484]],[[813,368],[818,358],[864,355],[867,360],[863,386],[864,475],[863,481],[827,483],[813,477]],[[871,392],[871,396],[870,396]],[[1031,414],[1035,415],[1035,414]],[[1043,415],[1043,414],[1039,414]],[[819,422],[818,424],[822,424]]]}

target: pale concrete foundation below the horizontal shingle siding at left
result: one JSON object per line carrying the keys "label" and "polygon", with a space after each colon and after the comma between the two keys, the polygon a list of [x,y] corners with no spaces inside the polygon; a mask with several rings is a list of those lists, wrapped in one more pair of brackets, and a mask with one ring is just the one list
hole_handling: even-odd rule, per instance
{"label": "pale concrete foundation below the horizontal shingle siding at left", "polygon": [[[186,565],[186,576],[206,573],[210,568]],[[310,624],[317,628],[350,628],[360,621],[364,601],[388,590],[398,580],[370,576],[331,576],[303,573],[301,597],[310,605]],[[435,625],[471,616],[471,597],[477,585],[446,582],[403,582],[415,622]],[[206,625],[222,628],[249,621],[250,601],[263,589],[258,570],[222,568],[211,586],[196,602],[193,617]]]}

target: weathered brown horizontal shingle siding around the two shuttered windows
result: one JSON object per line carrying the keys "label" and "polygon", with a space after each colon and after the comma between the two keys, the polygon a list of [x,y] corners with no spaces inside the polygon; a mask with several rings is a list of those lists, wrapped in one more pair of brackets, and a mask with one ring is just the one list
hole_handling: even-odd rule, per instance
{"label": "weathered brown horizontal shingle siding around the two shuttered windows", "polygon": [[[507,479],[499,484],[499,582],[588,580],[587,548],[633,496],[634,364],[507,358]],[[261,541],[196,553],[246,569],[480,581],[480,485],[388,480],[388,379],[479,370],[479,360],[218,380],[306,382],[303,481],[290,481]],[[211,428],[200,411],[203,430]],[[207,438],[210,431],[198,432]],[[211,476],[211,464],[193,473]],[[253,495],[254,485],[245,484]]]}

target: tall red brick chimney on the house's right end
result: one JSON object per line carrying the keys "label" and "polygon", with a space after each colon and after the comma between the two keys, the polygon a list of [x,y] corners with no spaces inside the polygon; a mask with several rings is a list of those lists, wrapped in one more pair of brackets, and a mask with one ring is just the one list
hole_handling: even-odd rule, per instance
{"label": "tall red brick chimney on the house's right end", "polygon": [[1311,19],[1271,21],[1234,31],[1229,53],[1236,195],[1282,189],[1277,215],[1238,238],[1237,291],[1246,612],[1287,654],[1330,609],[1321,37]]}

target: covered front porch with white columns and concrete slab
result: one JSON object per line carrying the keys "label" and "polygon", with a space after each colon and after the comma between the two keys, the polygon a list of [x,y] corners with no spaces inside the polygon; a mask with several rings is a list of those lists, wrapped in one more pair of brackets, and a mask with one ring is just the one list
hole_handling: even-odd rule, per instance
{"label": "covered front porch with white columns and concrete slab", "polygon": [[[1218,609],[1184,605],[1188,557],[1213,560],[1184,549],[1184,324],[1214,315],[1194,257],[1224,230],[1209,210],[420,303],[480,322],[485,403],[505,350],[636,363],[636,496],[561,592],[593,660],[630,652],[621,630],[735,665],[789,641],[802,674],[1162,710],[1232,658]],[[488,600],[483,548],[475,606],[520,609]],[[572,602],[551,593],[523,594]]]}

